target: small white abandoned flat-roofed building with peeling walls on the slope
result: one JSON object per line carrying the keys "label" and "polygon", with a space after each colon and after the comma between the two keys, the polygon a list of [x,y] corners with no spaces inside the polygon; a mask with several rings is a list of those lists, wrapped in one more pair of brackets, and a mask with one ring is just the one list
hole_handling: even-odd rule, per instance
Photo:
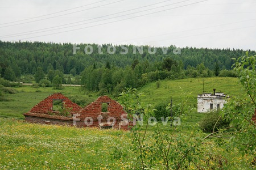
{"label": "small white abandoned flat-roofed building with peeling walls on the slope", "polygon": [[226,103],[226,98],[229,96],[222,92],[204,93],[203,95],[197,95],[197,112],[206,113],[210,111],[216,111],[222,109]]}

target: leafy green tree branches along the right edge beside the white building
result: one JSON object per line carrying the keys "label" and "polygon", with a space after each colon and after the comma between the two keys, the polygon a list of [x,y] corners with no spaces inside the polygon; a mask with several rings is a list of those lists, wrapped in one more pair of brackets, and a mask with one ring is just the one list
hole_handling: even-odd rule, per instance
{"label": "leafy green tree branches along the right edge beside the white building", "polygon": [[234,70],[238,79],[246,91],[243,95],[232,97],[222,112],[222,117],[231,121],[234,133],[222,131],[221,135],[228,135],[226,141],[228,148],[236,147],[243,154],[254,156],[256,159],[256,124],[251,120],[256,109],[256,56],[246,56],[235,59]]}

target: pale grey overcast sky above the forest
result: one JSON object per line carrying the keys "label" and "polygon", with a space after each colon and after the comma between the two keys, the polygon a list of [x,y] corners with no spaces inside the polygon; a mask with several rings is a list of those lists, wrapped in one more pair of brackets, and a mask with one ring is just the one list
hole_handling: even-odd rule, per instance
{"label": "pale grey overcast sky above the forest", "polygon": [[0,0],[0,40],[256,50],[256,1]]}

